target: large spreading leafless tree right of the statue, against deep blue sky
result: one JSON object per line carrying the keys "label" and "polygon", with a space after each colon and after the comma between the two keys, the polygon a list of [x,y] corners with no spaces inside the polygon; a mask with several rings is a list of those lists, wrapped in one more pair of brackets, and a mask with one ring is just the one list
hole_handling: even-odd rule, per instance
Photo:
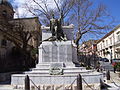
{"label": "large spreading leafless tree right of the statue, against deep blue sky", "polygon": [[93,5],[90,0],[75,0],[70,20],[77,30],[75,39],[77,47],[84,34],[100,34],[110,29],[113,24],[113,18],[107,13],[105,5],[99,4],[97,7]]}

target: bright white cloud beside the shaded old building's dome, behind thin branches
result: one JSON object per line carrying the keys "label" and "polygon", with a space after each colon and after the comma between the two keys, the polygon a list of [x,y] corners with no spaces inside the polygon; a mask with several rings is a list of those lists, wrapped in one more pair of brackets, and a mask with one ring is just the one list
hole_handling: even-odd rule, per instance
{"label": "bright white cloud beside the shaded old building's dome, behind thin branches", "polygon": [[[44,5],[42,4],[42,1],[44,1],[44,0],[36,0],[39,4],[41,4],[42,5],[42,7],[44,7]],[[55,5],[55,3],[54,3],[54,0],[45,0],[45,1],[47,1],[47,5],[48,5],[48,7],[49,7],[49,9],[50,8],[52,8],[52,9],[56,9],[56,5]],[[57,0],[58,2],[60,1],[60,0]],[[25,3],[27,3],[30,7],[36,7],[35,5],[35,3],[32,1],[32,0],[14,0],[13,1],[13,6],[14,7],[17,7],[18,9],[17,9],[17,13],[19,13],[19,16],[20,17],[31,17],[31,16],[33,16],[30,12],[28,12],[26,9],[25,9],[25,7],[24,7],[24,4]],[[38,8],[39,6],[37,6],[36,8]],[[17,17],[16,16],[16,14],[15,14],[15,17]]]}

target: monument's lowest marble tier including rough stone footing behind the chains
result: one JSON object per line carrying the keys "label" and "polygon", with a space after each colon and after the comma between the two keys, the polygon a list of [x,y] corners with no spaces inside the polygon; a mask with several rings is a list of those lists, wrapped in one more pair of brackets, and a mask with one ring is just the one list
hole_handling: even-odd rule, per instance
{"label": "monument's lowest marble tier including rough stone footing behind the chains", "polygon": [[[29,75],[32,82],[34,82],[37,86],[62,86],[60,89],[54,89],[54,90],[65,90],[66,86],[70,86],[73,82],[72,86],[76,86],[76,78],[78,74],[65,74],[65,75],[38,75],[38,74],[16,74],[12,75],[12,82],[11,85],[17,86],[17,87],[24,87],[24,79],[25,76]],[[103,78],[103,74],[100,73],[81,73],[82,78],[87,82],[87,84],[92,85],[96,87],[96,90],[100,90],[100,79]],[[82,81],[83,85],[87,87],[86,83]],[[31,82],[30,82],[31,83]],[[34,86],[33,83],[30,84],[31,86]],[[84,88],[85,88],[84,87]],[[64,89],[63,89],[64,88]],[[95,88],[94,88],[95,89]],[[47,90],[47,89],[44,89]],[[52,89],[49,89],[52,90]],[[73,89],[77,90],[77,89]],[[83,89],[86,90],[86,89]]]}

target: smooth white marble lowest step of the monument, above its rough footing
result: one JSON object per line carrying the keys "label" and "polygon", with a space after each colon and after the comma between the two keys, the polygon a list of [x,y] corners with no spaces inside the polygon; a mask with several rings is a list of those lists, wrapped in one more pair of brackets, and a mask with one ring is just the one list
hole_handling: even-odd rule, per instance
{"label": "smooth white marble lowest step of the monument, above its rough footing", "polygon": [[[25,76],[27,74],[14,74],[11,78],[11,85],[24,85]],[[30,79],[38,85],[43,84],[71,84],[78,74],[68,74],[68,75],[42,75],[42,74],[29,74]],[[89,73],[82,74],[82,77],[87,83],[100,83],[100,79],[103,78],[103,74],[100,73]],[[76,82],[75,82],[76,83]],[[83,82],[84,83],[84,82]]]}

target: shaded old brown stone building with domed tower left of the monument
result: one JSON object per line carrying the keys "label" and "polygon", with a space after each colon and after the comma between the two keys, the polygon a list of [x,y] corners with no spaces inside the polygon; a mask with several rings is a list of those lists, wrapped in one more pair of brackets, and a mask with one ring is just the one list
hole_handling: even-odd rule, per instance
{"label": "shaded old brown stone building with domed tower left of the monument", "polygon": [[[9,25],[13,25],[13,26],[9,27]],[[16,40],[16,43],[18,43],[21,46],[23,45],[20,35],[18,35],[16,32],[10,32],[10,30],[17,31],[16,27],[19,28],[20,25],[24,27],[23,32],[26,32],[26,34],[28,33],[28,36],[31,35],[31,38],[28,39],[28,46],[38,48],[42,40],[41,24],[39,22],[39,19],[37,17],[14,19],[14,9],[12,5],[7,0],[0,0],[0,63],[1,65],[11,65],[12,63],[12,62],[10,63],[9,61],[13,60],[13,58],[11,59],[9,56],[12,55],[13,49],[16,45],[11,40],[13,41]],[[8,61],[8,63],[6,63],[6,60]]]}

